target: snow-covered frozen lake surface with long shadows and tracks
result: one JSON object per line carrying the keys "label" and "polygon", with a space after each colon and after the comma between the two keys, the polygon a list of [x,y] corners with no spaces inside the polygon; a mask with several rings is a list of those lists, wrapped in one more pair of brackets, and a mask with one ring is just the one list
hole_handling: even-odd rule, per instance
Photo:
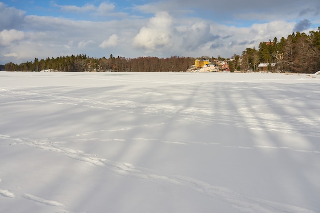
{"label": "snow-covered frozen lake surface with long shadows and tracks", "polygon": [[320,212],[320,77],[0,72],[0,212]]}

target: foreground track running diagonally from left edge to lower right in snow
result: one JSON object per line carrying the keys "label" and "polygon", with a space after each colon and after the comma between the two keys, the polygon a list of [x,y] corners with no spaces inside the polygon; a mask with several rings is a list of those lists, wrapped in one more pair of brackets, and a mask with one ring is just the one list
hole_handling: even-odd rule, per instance
{"label": "foreground track running diagonally from left edge to lower right in snow", "polygon": [[[127,129],[127,128],[124,128],[124,129]],[[182,185],[184,187],[189,187],[204,196],[210,197],[212,199],[220,200],[221,202],[224,202],[241,212],[315,213],[315,211],[301,208],[298,206],[287,205],[284,203],[277,203],[277,202],[272,202],[268,200],[243,196],[232,190],[229,190],[228,188],[214,186],[207,182],[197,180],[191,177],[180,176],[180,175],[158,174],[155,171],[152,171],[146,168],[136,167],[135,165],[128,162],[116,162],[116,161],[111,161],[105,158],[99,158],[97,157],[96,154],[88,154],[80,150],[64,148],[61,146],[59,142],[54,143],[52,140],[50,140],[50,138],[32,140],[28,138],[12,138],[8,135],[0,135],[0,139],[10,140],[10,141],[19,141],[18,144],[21,144],[21,145],[27,145],[37,149],[60,153],[66,157],[69,157],[75,160],[92,163],[93,165],[99,168],[106,168],[107,170],[110,170],[112,173],[117,175],[143,179],[148,181],[157,181],[165,184],[174,184],[174,185]],[[157,140],[157,139],[148,139],[148,138],[135,138],[135,139],[149,140],[151,141],[151,143],[153,143],[154,140]],[[177,142],[178,143],[175,143],[175,144],[188,145],[187,141],[184,141],[184,142],[177,141]],[[213,144],[213,145],[220,146],[220,144]],[[270,146],[257,146],[257,147],[221,146],[221,147],[233,148],[233,149],[234,148],[237,148],[237,149],[256,149],[256,148],[257,149],[258,148],[259,149],[283,149],[288,151],[299,151],[299,152],[305,152],[305,153],[320,154],[320,151],[294,150],[289,147],[270,147]],[[9,191],[4,191],[4,190],[0,190],[0,195],[9,197],[9,198],[15,197]],[[28,200],[39,202],[45,205],[51,205],[51,206],[57,206],[57,207],[64,206],[64,204],[60,202],[46,200],[46,199],[39,198],[27,193],[21,196]],[[71,212],[71,211],[60,209],[60,210],[57,210],[56,212]]]}

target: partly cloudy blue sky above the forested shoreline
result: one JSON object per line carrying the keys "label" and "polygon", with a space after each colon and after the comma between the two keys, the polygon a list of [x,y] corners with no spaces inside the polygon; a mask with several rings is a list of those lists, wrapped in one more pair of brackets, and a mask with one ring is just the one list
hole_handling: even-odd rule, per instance
{"label": "partly cloudy blue sky above the forested shoreline", "polygon": [[319,26],[318,0],[0,0],[0,64],[72,54],[228,58]]}

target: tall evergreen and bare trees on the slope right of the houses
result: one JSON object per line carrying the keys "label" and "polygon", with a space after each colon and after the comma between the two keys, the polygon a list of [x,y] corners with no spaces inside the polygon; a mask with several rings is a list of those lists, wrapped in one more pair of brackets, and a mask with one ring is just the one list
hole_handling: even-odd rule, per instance
{"label": "tall evergreen and bare trees on the slope right of the houses", "polygon": [[[320,70],[320,27],[317,31],[292,33],[280,41],[261,42],[259,49],[247,48],[242,55],[229,61],[231,70],[257,70],[260,63],[268,63],[269,71],[315,73]],[[241,62],[240,62],[241,58]],[[271,66],[276,63],[276,66]]]}

